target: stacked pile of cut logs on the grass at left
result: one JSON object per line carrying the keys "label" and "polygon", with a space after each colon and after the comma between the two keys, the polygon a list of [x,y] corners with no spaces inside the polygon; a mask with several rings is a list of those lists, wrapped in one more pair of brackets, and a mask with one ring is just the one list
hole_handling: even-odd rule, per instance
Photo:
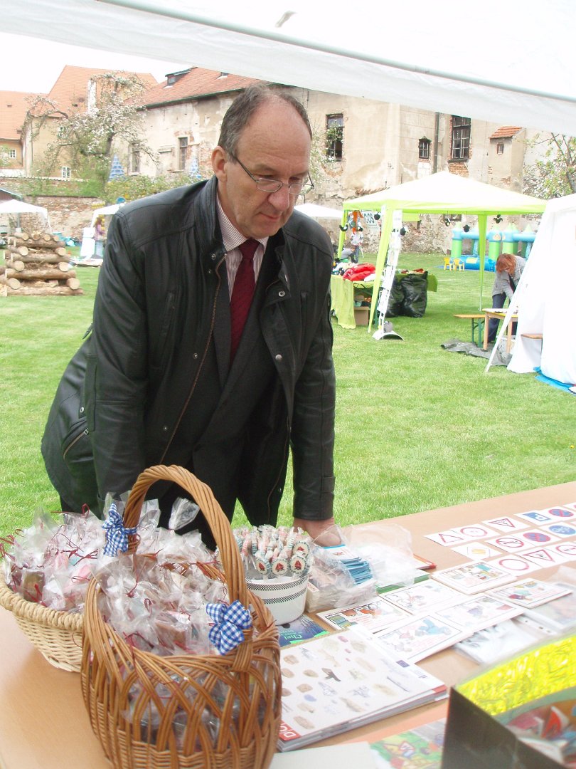
{"label": "stacked pile of cut logs on the grass at left", "polygon": [[0,296],[83,294],[64,241],[49,232],[8,238],[0,265]]}

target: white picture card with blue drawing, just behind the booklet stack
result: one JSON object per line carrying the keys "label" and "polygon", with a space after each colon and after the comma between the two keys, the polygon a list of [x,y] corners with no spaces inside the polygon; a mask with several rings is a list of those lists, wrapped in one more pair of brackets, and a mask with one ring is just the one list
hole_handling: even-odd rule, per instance
{"label": "white picture card with blue drawing, just behind the booklet stack", "polygon": [[434,614],[413,618],[409,622],[374,635],[390,654],[401,655],[409,662],[418,662],[437,651],[452,646],[465,637],[457,628]]}

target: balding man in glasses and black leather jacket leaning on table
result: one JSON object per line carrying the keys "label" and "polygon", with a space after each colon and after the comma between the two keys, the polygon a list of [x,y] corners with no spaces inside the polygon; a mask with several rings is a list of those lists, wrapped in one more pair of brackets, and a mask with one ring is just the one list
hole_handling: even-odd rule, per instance
{"label": "balding man in glasses and black leather jacket leaning on table", "polygon": [[[91,336],[68,365],[42,453],[65,509],[102,508],[154,464],[207,483],[232,518],[276,523],[289,447],[294,525],[333,524],[332,245],[293,213],[310,188],[310,123],[248,88],[223,118],[214,177],[124,205],[108,230]],[[238,246],[256,289],[230,358]],[[155,484],[167,521],[179,488]]]}

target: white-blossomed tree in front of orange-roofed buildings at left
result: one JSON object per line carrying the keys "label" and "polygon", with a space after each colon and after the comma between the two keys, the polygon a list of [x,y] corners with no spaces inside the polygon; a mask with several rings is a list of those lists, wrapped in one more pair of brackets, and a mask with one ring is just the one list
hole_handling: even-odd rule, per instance
{"label": "white-blossomed tree in front of orange-roofed buildings at left", "polygon": [[96,178],[104,185],[119,142],[155,161],[143,138],[144,114],[138,96],[144,89],[136,75],[108,72],[89,82],[85,108],[65,109],[48,98],[35,98],[28,114],[36,133],[50,121],[55,124],[54,139],[38,171],[51,175],[59,165],[69,165],[75,177]]}

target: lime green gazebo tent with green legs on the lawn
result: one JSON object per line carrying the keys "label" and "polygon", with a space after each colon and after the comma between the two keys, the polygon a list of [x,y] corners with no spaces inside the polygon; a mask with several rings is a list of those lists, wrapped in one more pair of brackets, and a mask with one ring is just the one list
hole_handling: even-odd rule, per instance
{"label": "lime green gazebo tent with green legs on the lawn", "polygon": [[[486,223],[488,216],[541,214],[546,207],[545,200],[521,195],[519,192],[505,190],[482,181],[473,181],[449,171],[439,171],[406,184],[390,187],[344,201],[342,224],[345,225],[350,211],[378,211],[382,215],[382,234],[376,257],[376,276],[372,293],[372,306],[368,331],[372,328],[372,318],[376,311],[379,276],[386,263],[386,254],[392,232],[394,211],[403,214],[468,214],[478,217],[478,254],[480,255],[480,301],[482,308],[482,288],[486,251]],[[340,231],[338,253],[342,252],[345,233]]]}

